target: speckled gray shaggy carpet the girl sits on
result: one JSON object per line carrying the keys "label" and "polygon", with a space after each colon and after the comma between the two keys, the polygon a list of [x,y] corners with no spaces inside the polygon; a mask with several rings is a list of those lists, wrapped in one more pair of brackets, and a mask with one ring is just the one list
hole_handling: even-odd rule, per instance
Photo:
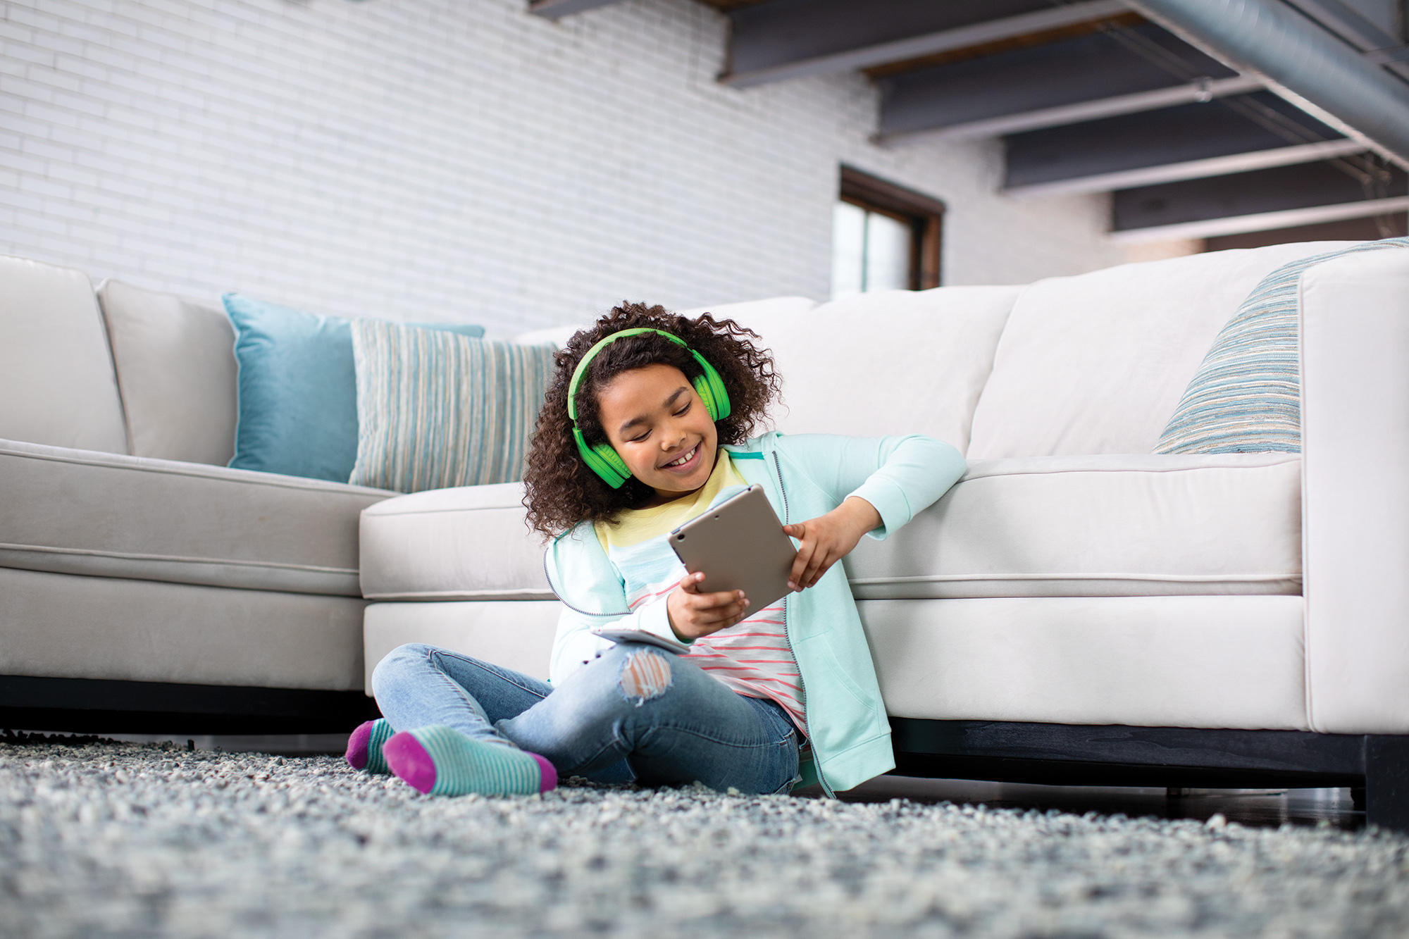
{"label": "speckled gray shaggy carpet the girl sits on", "polygon": [[0,746],[7,936],[1403,936],[1409,839]]}

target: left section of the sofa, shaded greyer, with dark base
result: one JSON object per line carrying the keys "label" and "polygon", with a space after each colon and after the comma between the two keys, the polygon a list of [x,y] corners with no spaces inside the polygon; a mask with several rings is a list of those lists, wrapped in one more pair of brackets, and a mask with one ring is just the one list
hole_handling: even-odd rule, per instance
{"label": "left section of the sofa, shaded greyer, with dark base", "polygon": [[217,299],[0,258],[0,725],[375,713],[356,526],[393,493],[227,470],[232,345]]}

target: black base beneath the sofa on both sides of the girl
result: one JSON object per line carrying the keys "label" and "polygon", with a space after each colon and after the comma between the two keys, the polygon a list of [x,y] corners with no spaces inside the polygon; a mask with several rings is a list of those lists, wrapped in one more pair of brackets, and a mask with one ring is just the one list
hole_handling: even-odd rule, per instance
{"label": "black base beneath the sofa on both sides of the girl", "polygon": [[[0,677],[0,729],[11,732],[201,736],[211,747],[214,736],[242,736],[241,746],[266,739],[285,749],[299,735],[294,749],[335,751],[340,735],[378,715],[375,701],[355,691]],[[1348,812],[1339,823],[1409,830],[1405,737],[906,718],[892,718],[892,732],[896,778],[1165,792],[1347,790],[1348,808],[1333,797],[1312,801]]]}

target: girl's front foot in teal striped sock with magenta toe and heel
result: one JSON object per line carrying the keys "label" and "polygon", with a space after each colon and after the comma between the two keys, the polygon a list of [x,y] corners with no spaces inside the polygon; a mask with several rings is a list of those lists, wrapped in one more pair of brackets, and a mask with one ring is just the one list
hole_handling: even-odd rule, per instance
{"label": "girl's front foot in teal striped sock with magenta toe and heel", "polygon": [[392,773],[431,795],[533,795],[558,785],[558,771],[537,753],[444,725],[393,735],[382,753]]}

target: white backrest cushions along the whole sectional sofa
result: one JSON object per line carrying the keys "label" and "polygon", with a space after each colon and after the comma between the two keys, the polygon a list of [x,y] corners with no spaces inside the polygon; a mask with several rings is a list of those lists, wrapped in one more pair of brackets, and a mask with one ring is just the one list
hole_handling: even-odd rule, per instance
{"label": "white backrest cushions along the whole sectional sofa", "polygon": [[[1347,244],[1222,251],[1027,286],[704,309],[772,350],[785,433],[917,431],[969,458],[1150,453],[1257,282]],[[0,437],[228,462],[237,367],[218,302],[108,281],[100,313],[83,272],[10,257],[0,283]],[[561,345],[576,329],[516,338]]]}

